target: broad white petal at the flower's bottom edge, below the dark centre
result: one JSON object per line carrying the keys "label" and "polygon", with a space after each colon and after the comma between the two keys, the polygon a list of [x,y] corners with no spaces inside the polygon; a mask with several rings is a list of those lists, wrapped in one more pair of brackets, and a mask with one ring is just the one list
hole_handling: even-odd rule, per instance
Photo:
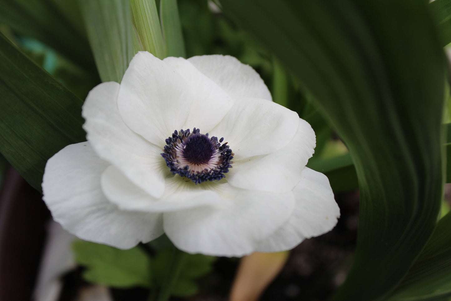
{"label": "broad white petal at the flower's bottom edge, below the dark centre", "polygon": [[243,256],[253,252],[256,243],[280,227],[293,211],[291,192],[262,193],[222,185],[223,199],[216,207],[163,214],[165,233],[177,248],[188,253]]}

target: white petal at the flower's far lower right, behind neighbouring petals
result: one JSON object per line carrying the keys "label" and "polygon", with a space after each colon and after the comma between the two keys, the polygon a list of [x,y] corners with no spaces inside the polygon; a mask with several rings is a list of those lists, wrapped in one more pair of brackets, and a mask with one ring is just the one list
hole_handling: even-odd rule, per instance
{"label": "white petal at the flower's far lower right, behind neighbouring petals", "polygon": [[296,199],[293,215],[274,234],[262,240],[257,251],[292,249],[304,239],[322,235],[335,227],[340,208],[324,174],[305,167],[293,193]]}

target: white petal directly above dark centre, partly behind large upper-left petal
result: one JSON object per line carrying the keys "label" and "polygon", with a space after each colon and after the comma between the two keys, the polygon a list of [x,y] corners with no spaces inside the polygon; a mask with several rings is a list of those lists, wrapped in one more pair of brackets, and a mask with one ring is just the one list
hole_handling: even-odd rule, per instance
{"label": "white petal directly above dark centre, partly behind large upper-left petal", "polygon": [[230,96],[183,57],[166,57],[163,61],[182,75],[196,95],[182,128],[197,127],[202,133],[209,132],[232,107]]}

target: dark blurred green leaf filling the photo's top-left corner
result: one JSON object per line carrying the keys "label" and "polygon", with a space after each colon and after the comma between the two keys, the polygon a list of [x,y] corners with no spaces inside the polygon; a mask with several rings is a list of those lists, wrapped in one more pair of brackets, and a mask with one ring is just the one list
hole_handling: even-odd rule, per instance
{"label": "dark blurred green leaf filling the photo's top-left corner", "polygon": [[1,3],[0,24],[7,24],[17,33],[52,47],[78,66],[96,72],[84,33],[63,17],[67,14],[61,5],[57,5],[58,1],[4,0]]}

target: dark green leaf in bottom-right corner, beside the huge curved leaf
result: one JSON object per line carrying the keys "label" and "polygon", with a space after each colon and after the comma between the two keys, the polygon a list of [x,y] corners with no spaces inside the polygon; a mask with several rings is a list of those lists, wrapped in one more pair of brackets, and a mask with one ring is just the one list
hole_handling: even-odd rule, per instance
{"label": "dark green leaf in bottom-right corner, beside the huge curved leaf", "polygon": [[437,224],[409,273],[390,301],[449,300],[451,298],[451,214]]}

